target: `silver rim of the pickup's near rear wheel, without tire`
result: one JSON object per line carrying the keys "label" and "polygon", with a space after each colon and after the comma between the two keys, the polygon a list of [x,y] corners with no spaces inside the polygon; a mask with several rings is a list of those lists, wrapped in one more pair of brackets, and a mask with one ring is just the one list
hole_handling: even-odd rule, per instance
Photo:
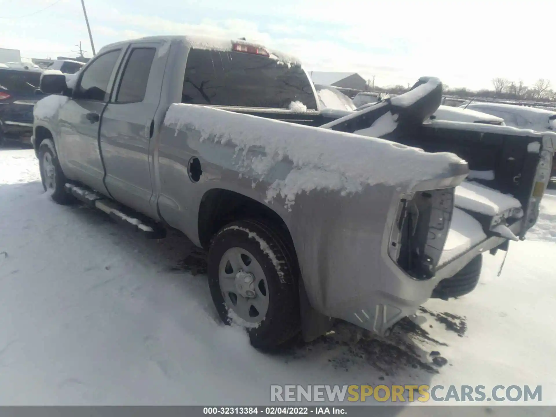
{"label": "silver rim of the pickup's near rear wheel, without tire", "polygon": [[218,279],[228,310],[250,323],[264,320],[269,309],[269,287],[261,265],[251,252],[241,247],[224,252]]}

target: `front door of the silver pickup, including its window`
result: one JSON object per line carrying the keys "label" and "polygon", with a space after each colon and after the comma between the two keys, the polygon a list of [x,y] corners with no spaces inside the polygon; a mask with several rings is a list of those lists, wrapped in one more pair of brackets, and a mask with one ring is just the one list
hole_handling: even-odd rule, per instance
{"label": "front door of the silver pickup, including its window", "polygon": [[72,99],[59,110],[56,147],[64,173],[105,194],[98,134],[122,54],[117,48],[93,58],[83,69]]}

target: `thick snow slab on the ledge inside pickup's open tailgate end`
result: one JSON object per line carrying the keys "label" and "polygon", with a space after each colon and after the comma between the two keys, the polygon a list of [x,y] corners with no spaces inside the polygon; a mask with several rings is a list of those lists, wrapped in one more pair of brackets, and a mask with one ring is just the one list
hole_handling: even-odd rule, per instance
{"label": "thick snow slab on the ledge inside pickup's open tailgate end", "polygon": [[[464,181],[455,188],[454,201],[455,206],[460,209],[488,216],[496,216],[512,209],[522,209],[517,198],[469,181]],[[522,210],[518,210],[518,212],[523,215]]]}

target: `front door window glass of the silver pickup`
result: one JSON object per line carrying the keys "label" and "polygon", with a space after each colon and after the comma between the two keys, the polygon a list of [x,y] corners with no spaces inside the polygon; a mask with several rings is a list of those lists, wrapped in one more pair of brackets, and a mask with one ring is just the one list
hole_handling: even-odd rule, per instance
{"label": "front door window glass of the silver pickup", "polygon": [[116,61],[120,56],[120,49],[102,54],[83,71],[81,82],[75,98],[85,100],[107,101],[108,82]]}

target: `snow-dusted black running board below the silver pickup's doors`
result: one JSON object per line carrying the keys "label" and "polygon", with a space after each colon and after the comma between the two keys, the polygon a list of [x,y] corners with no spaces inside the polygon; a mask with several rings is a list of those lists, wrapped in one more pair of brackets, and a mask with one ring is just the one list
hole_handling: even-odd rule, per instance
{"label": "snow-dusted black running board below the silver pickup's doors", "polygon": [[105,212],[116,222],[141,233],[146,239],[163,239],[166,237],[164,227],[157,225],[155,222],[141,220],[145,216],[133,214],[131,209],[108,199],[100,193],[70,183],[67,183],[65,188],[67,192],[88,207]]}

